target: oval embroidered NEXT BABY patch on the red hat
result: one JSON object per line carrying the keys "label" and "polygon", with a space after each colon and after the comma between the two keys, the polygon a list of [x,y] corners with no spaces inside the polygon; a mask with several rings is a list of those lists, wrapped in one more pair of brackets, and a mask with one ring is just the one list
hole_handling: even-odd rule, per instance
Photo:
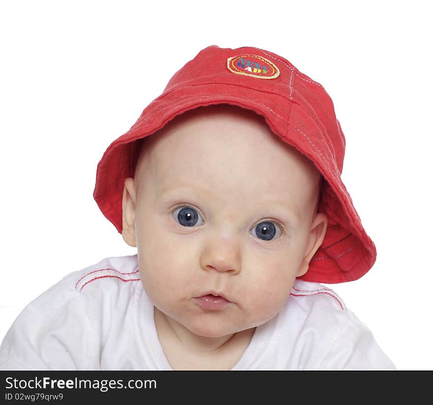
{"label": "oval embroidered NEXT BABY patch on the red hat", "polygon": [[275,79],[279,76],[279,69],[271,61],[257,55],[240,55],[228,58],[227,68],[233,73],[260,79]]}

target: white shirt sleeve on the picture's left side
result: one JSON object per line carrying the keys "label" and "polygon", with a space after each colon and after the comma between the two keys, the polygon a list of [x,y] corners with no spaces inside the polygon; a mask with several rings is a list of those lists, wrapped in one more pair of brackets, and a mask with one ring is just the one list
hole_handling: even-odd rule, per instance
{"label": "white shirt sleeve on the picture's left side", "polygon": [[0,370],[84,368],[87,320],[82,297],[71,287],[70,276],[18,315],[0,346]]}

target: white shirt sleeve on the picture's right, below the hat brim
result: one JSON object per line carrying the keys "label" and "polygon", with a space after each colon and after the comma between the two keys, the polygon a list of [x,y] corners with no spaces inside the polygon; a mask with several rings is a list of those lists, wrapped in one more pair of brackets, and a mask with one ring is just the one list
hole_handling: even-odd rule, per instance
{"label": "white shirt sleeve on the picture's right, below the hat brim", "polygon": [[350,310],[340,336],[323,360],[321,370],[396,370],[371,331]]}

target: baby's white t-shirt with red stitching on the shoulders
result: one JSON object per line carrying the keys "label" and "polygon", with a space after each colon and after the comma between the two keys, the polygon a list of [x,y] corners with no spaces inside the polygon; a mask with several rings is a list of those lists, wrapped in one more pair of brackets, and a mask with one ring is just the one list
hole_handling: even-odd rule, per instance
{"label": "baby's white t-shirt with red stitching on the shoulders", "polygon": [[[301,369],[395,367],[336,293],[296,280],[232,370]],[[172,370],[137,255],[70,273],[27,305],[0,346],[0,370]]]}

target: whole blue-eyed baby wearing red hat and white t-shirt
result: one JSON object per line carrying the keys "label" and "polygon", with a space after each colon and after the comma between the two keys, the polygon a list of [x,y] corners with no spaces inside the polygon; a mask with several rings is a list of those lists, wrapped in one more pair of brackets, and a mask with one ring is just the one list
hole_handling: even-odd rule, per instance
{"label": "whole blue-eyed baby wearing red hat and white t-shirt", "polygon": [[36,298],[0,369],[394,369],[318,284],[376,257],[344,148],[328,94],[290,62],[203,49],[98,165],[94,199],[137,254]]}

